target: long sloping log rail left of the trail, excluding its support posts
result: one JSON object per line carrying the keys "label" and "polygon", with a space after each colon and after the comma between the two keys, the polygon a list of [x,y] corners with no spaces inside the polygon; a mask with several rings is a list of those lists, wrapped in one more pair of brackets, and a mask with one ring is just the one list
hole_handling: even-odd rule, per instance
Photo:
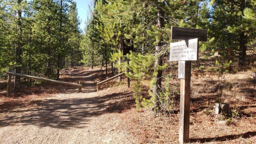
{"label": "long sloping log rail left of the trail, excluding its support posts", "polygon": [[71,85],[71,86],[76,86],[76,87],[82,87],[82,84],[74,84],[74,83],[68,83],[68,82],[61,82],[61,81],[56,81],[56,80],[52,80],[52,79],[36,77],[36,76],[28,76],[28,75],[12,73],[12,72],[6,72],[6,73],[9,74],[9,75],[27,77],[27,78],[32,78],[32,79],[38,79],[38,80],[52,82],[52,83],[57,83],[57,84],[65,84],[65,85]]}

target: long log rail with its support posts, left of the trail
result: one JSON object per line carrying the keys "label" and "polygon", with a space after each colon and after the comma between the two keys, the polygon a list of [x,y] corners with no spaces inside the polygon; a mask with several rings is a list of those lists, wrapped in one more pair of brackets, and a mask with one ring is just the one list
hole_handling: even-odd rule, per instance
{"label": "long log rail with its support posts, left of the trail", "polygon": [[[27,77],[27,78],[32,78],[32,79],[38,79],[42,81],[47,81],[47,82],[52,82],[52,83],[57,83],[57,84],[65,84],[65,85],[71,85],[71,86],[76,86],[79,87],[78,92],[82,92],[82,84],[75,84],[75,83],[68,83],[68,82],[61,82],[57,80],[52,80],[52,79],[47,79],[47,78],[42,78],[42,77],[36,77],[36,76],[29,76],[29,75],[23,75],[23,74],[18,74],[18,73],[13,73],[13,72],[6,72],[8,76],[8,87],[7,87],[7,94],[11,94],[11,80],[12,80],[12,75],[14,76],[20,76],[20,77]],[[80,82],[79,82],[80,83]]]}

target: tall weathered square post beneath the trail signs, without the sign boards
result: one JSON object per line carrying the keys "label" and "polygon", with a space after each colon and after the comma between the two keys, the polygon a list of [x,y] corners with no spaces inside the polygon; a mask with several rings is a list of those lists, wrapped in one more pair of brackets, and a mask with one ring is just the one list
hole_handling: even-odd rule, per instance
{"label": "tall weathered square post beneath the trail signs, without the sign boards", "polygon": [[185,61],[185,79],[180,79],[180,128],[179,141],[189,142],[191,60]]}

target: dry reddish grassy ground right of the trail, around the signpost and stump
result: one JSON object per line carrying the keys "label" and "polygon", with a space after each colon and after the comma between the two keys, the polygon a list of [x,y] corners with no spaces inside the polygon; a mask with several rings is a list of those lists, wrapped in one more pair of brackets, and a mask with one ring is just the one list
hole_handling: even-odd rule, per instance
{"label": "dry reddish grassy ground right of the trail, around the signpost and stump", "polygon": [[[255,65],[253,66],[255,67]],[[238,68],[237,68],[238,69]],[[175,74],[175,69],[168,71]],[[190,103],[190,143],[255,143],[256,141],[256,91],[252,81],[252,73],[237,71],[225,73],[221,77],[216,72],[203,72],[194,68],[191,77],[191,103]],[[117,83],[117,82],[112,82]],[[147,90],[149,80],[143,80],[144,97],[149,98]],[[179,85],[179,80],[172,82]],[[125,86],[126,83],[119,87]],[[108,86],[116,85],[109,84]],[[115,88],[108,88],[114,90]],[[220,88],[222,102],[229,103],[230,109],[237,111],[228,116],[216,116],[213,106],[219,100]],[[179,87],[178,87],[179,89]],[[169,116],[153,116],[150,109],[141,112],[133,108],[120,115],[125,120],[124,129],[138,138],[138,143],[179,143],[179,97],[175,97],[173,105],[174,114]],[[224,121],[230,119],[228,124]]]}

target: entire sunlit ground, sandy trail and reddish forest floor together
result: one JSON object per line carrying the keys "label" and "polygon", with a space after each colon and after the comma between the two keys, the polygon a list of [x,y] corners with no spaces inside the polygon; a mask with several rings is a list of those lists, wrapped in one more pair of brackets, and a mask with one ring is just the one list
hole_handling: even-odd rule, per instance
{"label": "entire sunlit ground, sandy trail and reddish forest floor together", "polygon": [[[197,64],[193,62],[191,75],[190,143],[255,143],[255,64],[232,67],[235,72],[224,73],[221,85],[217,72],[197,68]],[[177,66],[172,65],[164,74],[172,71],[176,75],[173,69]],[[178,95],[171,114],[153,116],[148,108],[138,112],[126,79],[105,83],[96,92],[97,81],[111,76],[100,67],[66,68],[61,70],[60,81],[81,81],[81,93],[76,87],[40,82],[23,85],[10,97],[2,80],[0,143],[179,143]],[[173,78],[178,89],[179,83]],[[141,94],[146,98],[148,84],[149,79],[143,80]],[[220,87],[222,102],[231,111],[224,116],[215,115],[213,108]]]}

